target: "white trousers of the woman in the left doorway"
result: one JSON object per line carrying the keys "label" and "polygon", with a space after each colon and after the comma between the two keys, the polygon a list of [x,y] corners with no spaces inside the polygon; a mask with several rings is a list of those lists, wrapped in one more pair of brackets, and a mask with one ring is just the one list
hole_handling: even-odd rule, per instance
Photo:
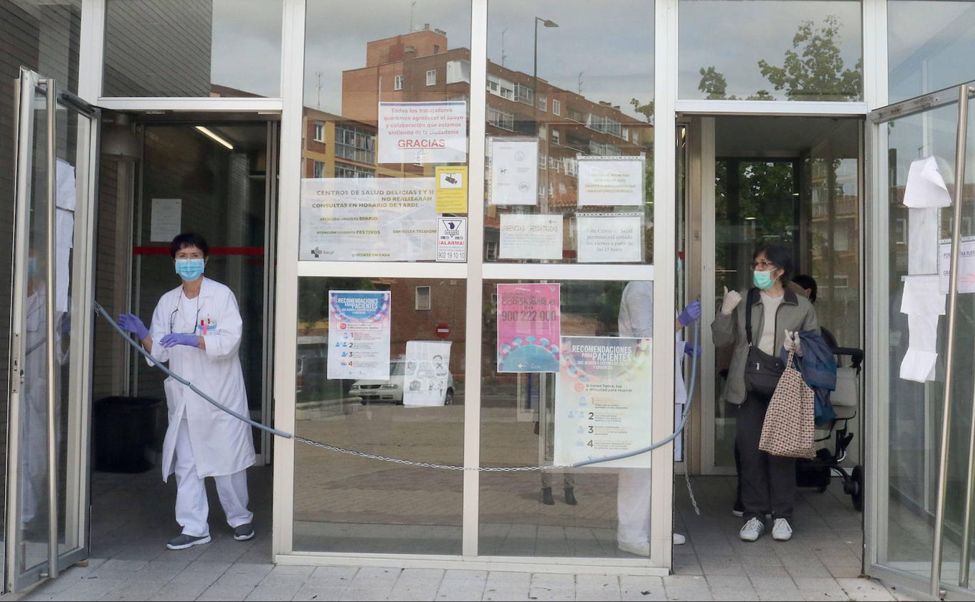
{"label": "white trousers of the woman in the left doorway", "polygon": [[[193,446],[189,440],[189,426],[186,419],[179,421],[176,433],[176,522],[185,535],[204,537],[210,535],[207,517],[210,505],[207,502],[207,487],[204,479],[196,473],[196,460]],[[222,476],[215,476],[216,493],[220,506],[232,528],[246,525],[254,520],[254,512],[247,509],[247,470]]]}

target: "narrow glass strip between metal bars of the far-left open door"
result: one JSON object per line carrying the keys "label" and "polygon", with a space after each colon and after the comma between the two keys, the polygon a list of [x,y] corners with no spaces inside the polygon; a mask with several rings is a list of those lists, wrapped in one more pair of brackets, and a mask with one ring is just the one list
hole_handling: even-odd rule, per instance
{"label": "narrow glass strip between metal bars of the far-left open door", "polygon": [[27,214],[27,287],[20,401],[20,573],[46,563],[51,508],[48,504],[48,111],[44,94],[34,93],[34,140]]}

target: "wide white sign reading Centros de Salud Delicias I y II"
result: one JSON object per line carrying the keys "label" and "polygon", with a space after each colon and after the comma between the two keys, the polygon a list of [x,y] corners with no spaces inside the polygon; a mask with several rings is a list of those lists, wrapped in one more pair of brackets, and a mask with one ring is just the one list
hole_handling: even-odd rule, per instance
{"label": "wide white sign reading Centros de Salud Delicias I y II", "polygon": [[437,213],[432,177],[301,180],[299,259],[432,261]]}

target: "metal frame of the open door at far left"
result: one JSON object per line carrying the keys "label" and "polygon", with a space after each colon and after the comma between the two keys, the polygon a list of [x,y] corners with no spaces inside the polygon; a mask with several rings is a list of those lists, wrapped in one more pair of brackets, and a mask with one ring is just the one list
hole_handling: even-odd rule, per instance
{"label": "metal frame of the open door at far left", "polygon": [[[15,129],[15,223],[14,223],[14,277],[13,303],[11,308],[11,359],[10,365],[10,402],[8,418],[8,457],[7,457],[7,487],[6,487],[6,533],[5,533],[5,562],[4,562],[4,590],[21,590],[41,579],[56,577],[59,567],[69,566],[89,555],[89,433],[90,399],[92,378],[92,336],[94,315],[92,313],[91,286],[92,274],[92,245],[94,236],[94,211],[96,199],[97,169],[98,169],[98,123],[100,112],[98,108],[89,105],[81,98],[68,92],[59,91],[58,83],[51,78],[30,71],[20,69],[20,78],[15,82],[16,118]],[[78,114],[78,140],[76,147],[77,158],[75,166],[75,187],[78,195],[75,207],[74,223],[74,261],[72,263],[71,282],[71,313],[87,320],[72,320],[70,332],[70,357],[73,360],[70,369],[70,380],[64,383],[72,395],[69,402],[68,428],[65,433],[67,443],[67,464],[65,467],[65,542],[73,542],[74,546],[59,553],[59,479],[55,476],[59,470],[58,453],[58,415],[53,411],[58,405],[57,389],[49,386],[48,395],[48,559],[23,572],[19,572],[20,549],[20,416],[23,397],[20,392],[20,374],[25,353],[25,339],[20,332],[25,320],[25,299],[22,294],[26,290],[26,258],[27,258],[27,212],[30,210],[30,184],[33,168],[34,142],[34,111],[35,93],[40,92],[46,98],[47,111],[47,196],[48,206],[45,215],[48,225],[47,251],[47,282],[55,282],[55,261],[51,259],[55,247],[55,218],[56,203],[56,169],[57,161],[57,111],[59,109],[74,111]],[[55,313],[54,294],[47,295],[48,315],[47,339],[56,338],[57,325],[52,319]],[[56,382],[55,361],[52,359],[54,346],[48,345],[48,383]]]}

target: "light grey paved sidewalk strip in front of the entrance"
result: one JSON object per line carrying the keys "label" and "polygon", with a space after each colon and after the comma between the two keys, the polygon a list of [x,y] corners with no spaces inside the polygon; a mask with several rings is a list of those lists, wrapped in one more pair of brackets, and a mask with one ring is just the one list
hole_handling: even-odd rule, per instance
{"label": "light grey paved sidewalk strip in front of the entrance", "polygon": [[[231,541],[232,542],[232,541]],[[229,545],[215,543],[214,546]],[[796,596],[799,591],[800,597]],[[23,600],[911,600],[865,579],[607,577],[500,571],[95,560]]]}

